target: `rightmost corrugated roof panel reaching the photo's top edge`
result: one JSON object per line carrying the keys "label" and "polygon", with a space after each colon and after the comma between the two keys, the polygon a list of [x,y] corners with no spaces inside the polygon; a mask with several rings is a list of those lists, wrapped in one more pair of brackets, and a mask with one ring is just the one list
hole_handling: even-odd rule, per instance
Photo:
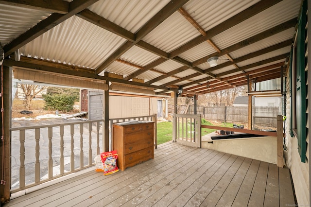
{"label": "rightmost corrugated roof panel reaching the photo's top edge", "polygon": [[[297,16],[301,0],[283,0],[212,38],[224,49]],[[277,8],[277,9],[276,9]]]}

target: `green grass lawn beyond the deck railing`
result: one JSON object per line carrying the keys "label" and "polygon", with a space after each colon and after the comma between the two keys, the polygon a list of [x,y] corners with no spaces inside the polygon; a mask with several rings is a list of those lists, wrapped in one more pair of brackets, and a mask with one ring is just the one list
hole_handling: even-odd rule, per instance
{"label": "green grass lawn beyond the deck railing", "polygon": [[[210,123],[209,121],[206,121],[205,119],[202,119],[202,124],[204,125],[213,125],[212,123]],[[231,124],[233,126],[233,124]],[[223,126],[228,126],[227,125],[223,125]],[[231,126],[231,127],[232,127]],[[215,129],[206,129],[206,128],[202,128],[201,131],[201,135],[207,135],[211,132],[214,132]],[[171,121],[166,121],[166,122],[158,122],[157,123],[157,144],[162,144],[168,141],[172,141],[173,138],[173,122]]]}

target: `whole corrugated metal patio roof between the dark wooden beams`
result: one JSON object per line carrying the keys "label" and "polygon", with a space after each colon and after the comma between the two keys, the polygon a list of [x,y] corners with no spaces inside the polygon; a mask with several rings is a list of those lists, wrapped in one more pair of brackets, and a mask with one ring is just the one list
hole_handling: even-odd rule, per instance
{"label": "whole corrugated metal patio roof between the dark wooden beams", "polygon": [[[70,2],[71,0],[67,1]],[[168,4],[169,2],[170,4]],[[111,32],[80,18],[83,16],[82,12],[79,15],[80,17],[73,16],[59,24],[56,21],[58,25],[55,27],[52,27],[53,25],[47,25],[47,28],[50,27],[52,29],[34,40],[29,38],[29,41],[25,41],[29,43],[21,47],[20,52],[29,57],[51,60],[90,69],[97,69],[102,66],[95,71],[96,74],[99,73],[100,75],[104,74],[104,71],[108,71],[121,74],[123,77],[128,77],[133,75],[135,71],[140,70],[134,65],[144,67],[149,64],[153,65],[155,70],[162,73],[169,73],[174,69],[180,67],[184,68],[185,66],[187,67],[189,64],[194,65],[196,60],[215,53],[215,49],[213,49],[207,41],[202,40],[196,42],[196,40],[199,39],[197,37],[202,37],[202,35],[184,16],[176,11],[177,6],[166,10],[167,5],[170,6],[180,2],[181,1],[169,0],[99,0],[97,3],[84,9],[90,10],[87,11],[89,12],[87,14],[90,14],[90,19],[93,17],[92,21],[97,21],[99,24],[102,23],[101,20],[97,19],[97,15],[110,21],[111,24],[107,25],[107,28],[109,28]],[[234,17],[236,14],[239,14],[257,2],[259,2],[259,0],[189,0],[188,3],[182,7],[207,33],[210,31],[214,34],[213,28],[215,28],[215,26]],[[261,2],[259,2],[259,4]],[[233,23],[232,25],[229,25],[232,26],[230,29],[215,35],[211,40],[220,49],[232,46],[235,43],[244,41],[246,38],[258,35],[267,29],[280,25],[289,19],[297,18],[300,3],[301,0],[280,1],[265,11],[259,12],[259,14],[254,17],[244,20],[242,23],[236,25]],[[20,5],[25,6],[22,2]],[[178,5],[178,7],[180,7],[180,5]],[[44,8],[42,9],[45,11]],[[172,11],[172,13],[170,13],[167,19],[161,19],[161,21],[156,22],[157,19],[154,17],[159,11],[161,11],[161,15],[157,17],[160,19],[161,16],[166,16],[166,12]],[[77,13],[78,12],[79,11],[77,11]],[[97,15],[92,16],[91,12],[94,12]],[[35,26],[40,20],[49,17],[49,15],[50,14],[39,10],[29,10],[19,6],[7,6],[4,5],[3,2],[0,3],[0,42],[2,46],[3,44],[8,44],[12,39],[17,38],[17,36],[22,35],[31,27]],[[150,32],[148,28],[154,28],[153,24],[155,24],[156,27],[155,29],[150,30]],[[226,25],[224,25],[224,28],[225,26]],[[145,41],[143,46],[134,46],[136,44],[135,34],[141,28],[146,29],[149,34],[142,37],[142,41]],[[121,37],[126,36],[123,34],[126,33],[124,30],[134,34],[130,38],[127,38],[130,41]],[[230,52],[229,55],[233,59],[237,59],[249,53],[257,52],[269,46],[283,42],[284,40],[292,40],[293,37],[294,26],[291,29]],[[140,39],[137,39],[137,41],[139,40]],[[191,47],[187,47],[188,43],[192,42],[195,42],[195,44],[191,44]],[[128,47],[121,47],[124,43],[126,43],[126,46]],[[148,48],[148,51],[143,48]],[[122,51],[122,49],[124,50]],[[175,51],[176,49],[179,54]],[[163,55],[162,52],[159,52],[161,50],[167,52],[168,54],[164,55],[169,58],[170,56],[171,58],[173,57],[172,54],[174,52],[174,55],[178,55],[178,57],[157,65],[158,63],[156,60]],[[12,51],[13,50],[10,52]],[[170,54],[172,51],[173,53]],[[157,54],[157,52],[161,54]],[[239,67],[247,66],[288,52],[290,52],[290,46],[239,62],[237,65]],[[218,65],[229,61],[223,54],[219,58]],[[222,60],[223,58],[226,60]],[[128,63],[121,63],[118,59]],[[183,61],[188,61],[188,63],[181,64],[180,62]],[[278,63],[279,61],[276,62]],[[273,63],[265,65],[268,66],[271,64]],[[260,65],[252,69],[261,68],[263,66],[264,65]],[[207,62],[196,67],[203,70],[210,69]],[[217,75],[232,69],[235,69],[233,65],[217,69],[212,71],[212,73]],[[252,69],[245,69],[245,71],[250,71]],[[183,72],[170,74],[173,77],[170,76],[151,84],[157,86],[170,84],[172,81],[175,82],[175,80],[178,80],[176,77],[181,79],[179,82],[175,82],[175,85],[180,86],[183,84],[190,84],[191,82],[188,80],[188,76],[194,73],[198,75],[191,78],[190,81],[197,81],[207,77],[206,74],[200,74],[194,69],[187,69]],[[241,73],[242,71],[231,73],[221,76],[220,78]],[[136,75],[135,77],[150,81],[161,75],[161,73],[155,72],[151,69]],[[193,84],[193,86],[195,85],[197,84]]]}

